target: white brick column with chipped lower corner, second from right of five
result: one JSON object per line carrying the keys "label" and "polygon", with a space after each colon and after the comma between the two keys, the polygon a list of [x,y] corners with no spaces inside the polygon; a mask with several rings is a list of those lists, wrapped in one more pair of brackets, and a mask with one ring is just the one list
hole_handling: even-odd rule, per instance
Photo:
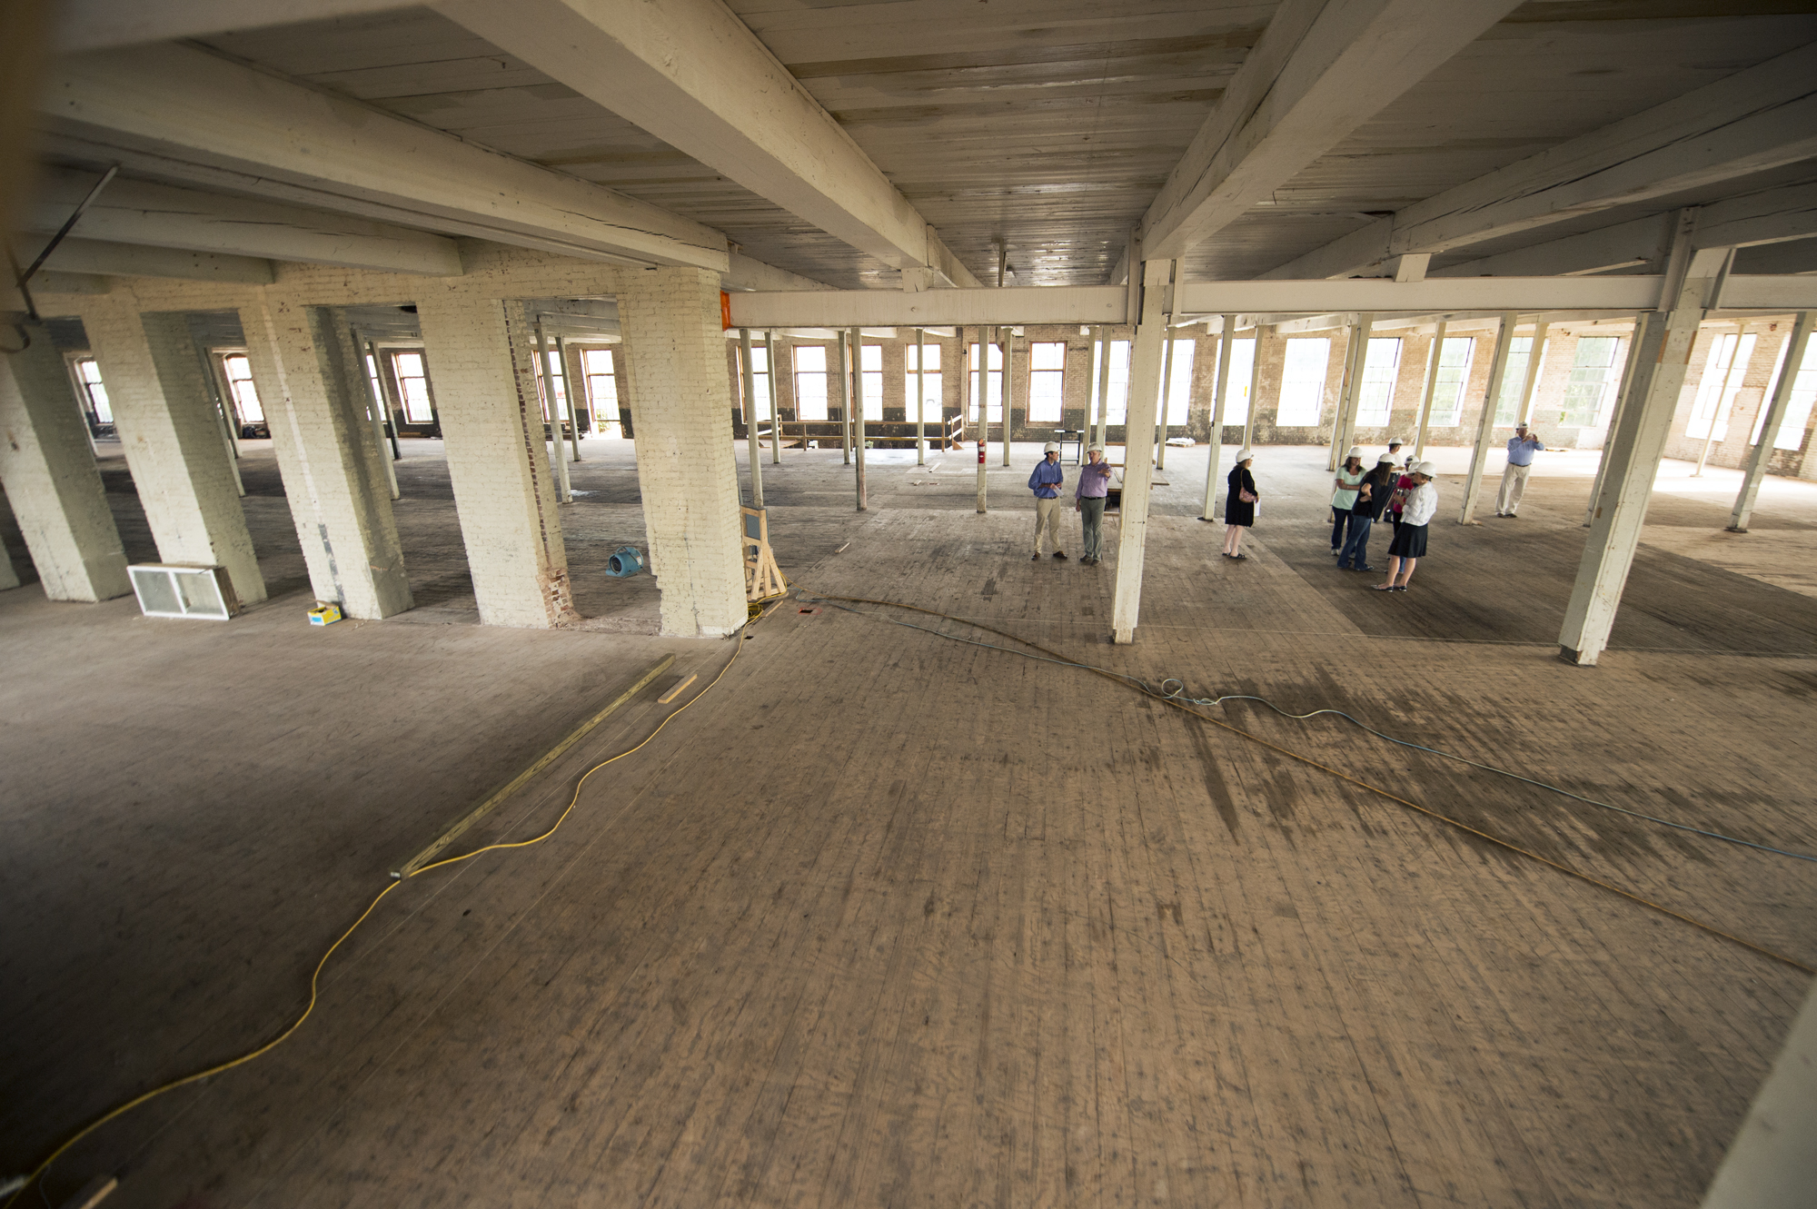
{"label": "white brick column with chipped lower corner, second from right of five", "polygon": [[416,318],[480,621],[518,628],[572,621],[523,305],[431,292]]}

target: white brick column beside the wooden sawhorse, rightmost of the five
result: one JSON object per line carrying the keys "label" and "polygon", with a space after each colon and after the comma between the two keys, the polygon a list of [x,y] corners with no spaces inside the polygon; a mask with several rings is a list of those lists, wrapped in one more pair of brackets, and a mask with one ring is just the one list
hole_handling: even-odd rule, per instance
{"label": "white brick column beside the wooden sawhorse, rightmost of the five", "polygon": [[618,321],[638,365],[630,416],[663,634],[732,634],[745,624],[745,563],[720,280],[703,269],[627,276]]}

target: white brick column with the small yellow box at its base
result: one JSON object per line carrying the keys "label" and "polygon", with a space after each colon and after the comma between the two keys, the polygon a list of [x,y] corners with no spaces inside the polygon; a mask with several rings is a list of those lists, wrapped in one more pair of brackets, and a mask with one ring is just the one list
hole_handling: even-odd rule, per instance
{"label": "white brick column with the small yellow box at its base", "polygon": [[318,601],[378,621],[411,606],[365,365],[329,307],[267,298],[240,310],[283,494]]}

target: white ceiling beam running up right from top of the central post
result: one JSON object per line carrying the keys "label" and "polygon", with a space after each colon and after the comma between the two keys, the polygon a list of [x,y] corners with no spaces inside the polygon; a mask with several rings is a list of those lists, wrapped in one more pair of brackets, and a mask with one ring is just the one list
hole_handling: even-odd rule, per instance
{"label": "white ceiling beam running up right from top of the central post", "polygon": [[1148,207],[1143,254],[1185,256],[1515,7],[1286,0]]}

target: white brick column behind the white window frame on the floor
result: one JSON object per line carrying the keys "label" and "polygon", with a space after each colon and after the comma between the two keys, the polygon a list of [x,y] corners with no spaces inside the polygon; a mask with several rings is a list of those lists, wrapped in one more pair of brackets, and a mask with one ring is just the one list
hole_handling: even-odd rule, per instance
{"label": "white brick column behind the white window frame on the floor", "polygon": [[133,296],[84,307],[114,428],[158,557],[227,568],[242,604],[265,599],[220,412],[180,312],[140,314]]}

